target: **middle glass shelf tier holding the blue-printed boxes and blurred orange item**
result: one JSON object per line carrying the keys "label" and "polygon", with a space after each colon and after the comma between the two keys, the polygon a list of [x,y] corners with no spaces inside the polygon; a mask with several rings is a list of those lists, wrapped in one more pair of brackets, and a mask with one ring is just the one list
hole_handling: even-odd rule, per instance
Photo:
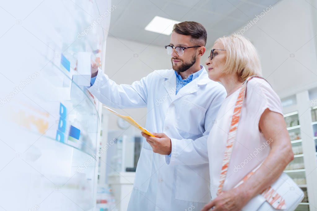
{"label": "middle glass shelf tier holding the blue-printed boxes and blurred orange item", "polygon": [[[52,72],[63,77],[59,84],[54,83],[57,80],[46,79]],[[10,106],[3,106],[3,115],[32,132],[45,134],[87,154],[96,153],[100,120],[89,92],[57,66],[43,69],[38,77],[37,83],[25,87],[25,95],[17,95]],[[42,87],[41,93],[37,87]]]}

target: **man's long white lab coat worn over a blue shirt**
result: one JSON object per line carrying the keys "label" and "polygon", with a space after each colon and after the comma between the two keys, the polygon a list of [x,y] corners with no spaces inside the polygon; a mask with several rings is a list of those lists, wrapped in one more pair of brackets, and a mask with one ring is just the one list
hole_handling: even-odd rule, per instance
{"label": "man's long white lab coat worn over a blue shirt", "polygon": [[146,107],[146,129],[171,138],[171,157],[153,153],[143,141],[129,211],[200,210],[210,202],[207,137],[226,91],[205,68],[177,95],[172,69],[132,85],[118,85],[99,71],[88,90],[113,108]]}

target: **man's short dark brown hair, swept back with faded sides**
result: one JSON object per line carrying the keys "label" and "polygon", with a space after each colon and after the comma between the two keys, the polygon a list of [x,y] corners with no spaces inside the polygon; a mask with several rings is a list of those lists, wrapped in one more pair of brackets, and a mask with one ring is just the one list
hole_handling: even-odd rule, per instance
{"label": "man's short dark brown hair, swept back with faded sides", "polygon": [[207,32],[205,27],[200,23],[193,21],[177,23],[173,27],[173,32],[176,32],[177,34],[190,35],[197,45],[206,45]]}

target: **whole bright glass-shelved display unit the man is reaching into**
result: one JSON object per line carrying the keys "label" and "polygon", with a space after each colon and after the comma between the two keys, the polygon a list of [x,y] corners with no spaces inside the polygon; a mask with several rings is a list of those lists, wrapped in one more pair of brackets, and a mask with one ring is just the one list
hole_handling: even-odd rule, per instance
{"label": "whole bright glass-shelved display unit the man is reaching into", "polygon": [[0,210],[94,211],[101,103],[86,86],[90,62],[104,68],[110,1],[2,6],[21,20],[0,13],[16,23],[0,40]]}

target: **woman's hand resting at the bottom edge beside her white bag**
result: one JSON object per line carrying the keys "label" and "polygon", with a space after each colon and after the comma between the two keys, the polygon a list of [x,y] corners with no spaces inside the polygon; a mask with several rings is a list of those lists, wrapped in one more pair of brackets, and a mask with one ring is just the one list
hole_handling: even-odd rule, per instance
{"label": "woman's hand resting at the bottom edge beside her white bag", "polygon": [[240,211],[251,198],[240,187],[223,191],[212,202],[204,206],[202,211]]}

